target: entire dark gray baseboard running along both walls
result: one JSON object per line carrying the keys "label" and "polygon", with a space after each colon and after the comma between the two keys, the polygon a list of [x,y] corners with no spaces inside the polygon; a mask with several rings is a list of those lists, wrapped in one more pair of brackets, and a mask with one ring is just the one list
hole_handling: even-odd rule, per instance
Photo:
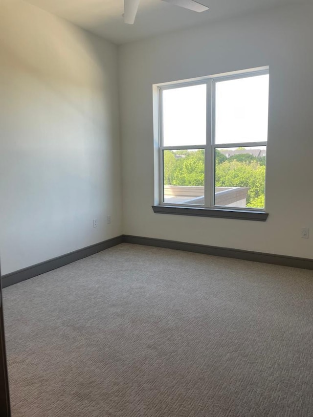
{"label": "entire dark gray baseboard running along both walls", "polygon": [[78,261],[79,259],[86,258],[87,256],[94,255],[95,253],[101,252],[120,243],[134,243],[144,246],[156,246],[167,249],[184,250],[186,252],[203,253],[206,255],[223,256],[226,258],[243,259],[245,261],[273,263],[275,265],[292,266],[294,268],[313,269],[313,259],[274,255],[263,252],[252,252],[248,250],[231,249],[219,246],[208,246],[197,243],[168,241],[165,239],[121,235],[107,241],[102,241],[100,243],[75,250],[74,252],[67,253],[63,256],[49,259],[48,261],[42,263],[37,263],[36,265],[29,266],[28,268],[3,275],[1,277],[2,288],[28,280],[29,278],[36,277],[37,275],[44,274],[45,272],[52,271],[53,269]]}

